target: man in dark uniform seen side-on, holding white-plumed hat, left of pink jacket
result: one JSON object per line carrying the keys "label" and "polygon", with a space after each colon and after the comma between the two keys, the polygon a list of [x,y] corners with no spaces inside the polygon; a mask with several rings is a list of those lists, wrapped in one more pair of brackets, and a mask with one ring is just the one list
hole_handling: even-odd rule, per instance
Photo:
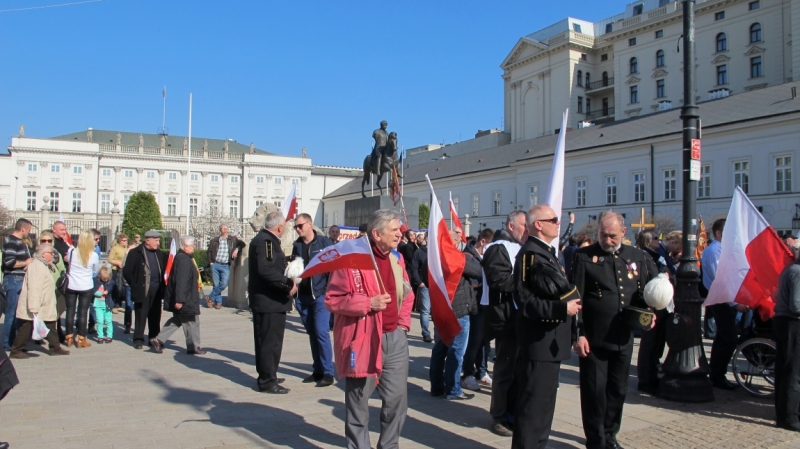
{"label": "man in dark uniform seen side-on, holding white-plumed hat, left of pink jacket", "polygon": [[270,212],[261,230],[250,242],[250,277],[247,292],[253,312],[253,334],[256,344],[258,391],[286,394],[288,388],[279,384],[278,364],[283,350],[286,312],[292,308],[292,296],[297,293],[294,282],[284,276],[285,255],[281,236],[286,220],[278,211]]}

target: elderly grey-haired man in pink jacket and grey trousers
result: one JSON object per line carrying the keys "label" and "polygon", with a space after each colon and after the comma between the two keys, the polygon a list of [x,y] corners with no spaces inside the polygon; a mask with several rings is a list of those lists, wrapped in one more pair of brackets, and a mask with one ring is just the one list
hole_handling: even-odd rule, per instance
{"label": "elderly grey-haired man in pink jacket and grey trousers", "polygon": [[346,379],[345,436],[349,448],[369,448],[369,397],[377,388],[381,406],[378,448],[399,447],[408,409],[408,340],[414,293],[394,211],[375,211],[367,236],[378,270],[342,269],[328,281],[325,306],[336,318],[334,359]]}

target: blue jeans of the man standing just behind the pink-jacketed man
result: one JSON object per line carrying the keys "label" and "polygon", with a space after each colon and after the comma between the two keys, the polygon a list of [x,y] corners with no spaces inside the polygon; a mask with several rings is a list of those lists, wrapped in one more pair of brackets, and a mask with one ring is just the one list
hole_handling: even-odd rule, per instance
{"label": "blue jeans of the man standing just behind the pink-jacketed man", "polygon": [[311,343],[314,377],[321,379],[325,374],[333,376],[333,349],[328,333],[331,313],[325,308],[325,297],[314,299],[311,295],[298,295],[295,305]]}

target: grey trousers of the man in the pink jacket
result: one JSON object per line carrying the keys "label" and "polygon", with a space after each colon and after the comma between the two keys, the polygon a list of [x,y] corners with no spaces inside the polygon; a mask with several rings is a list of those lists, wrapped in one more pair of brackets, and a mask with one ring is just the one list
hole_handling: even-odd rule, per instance
{"label": "grey trousers of the man in the pink jacket", "polygon": [[374,377],[348,377],[345,383],[345,436],[350,449],[369,449],[369,397],[377,388],[381,405],[378,449],[400,447],[400,432],[408,413],[408,339],[399,327],[383,334],[383,370]]}

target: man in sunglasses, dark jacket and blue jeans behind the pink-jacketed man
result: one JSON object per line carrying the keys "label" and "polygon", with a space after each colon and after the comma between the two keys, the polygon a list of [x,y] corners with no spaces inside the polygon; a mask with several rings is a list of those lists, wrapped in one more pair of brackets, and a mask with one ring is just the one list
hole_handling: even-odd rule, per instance
{"label": "man in sunglasses, dark jacket and blue jeans behind the pink-jacketed man", "polygon": [[[309,214],[299,214],[294,220],[294,229],[300,236],[292,245],[292,259],[301,257],[303,266],[333,242],[314,232],[314,223]],[[328,288],[328,273],[303,279],[297,286],[295,306],[306,328],[311,343],[313,372],[303,383],[317,382],[320,387],[333,385],[333,349],[331,348],[331,313],[325,308],[325,290]]]}

